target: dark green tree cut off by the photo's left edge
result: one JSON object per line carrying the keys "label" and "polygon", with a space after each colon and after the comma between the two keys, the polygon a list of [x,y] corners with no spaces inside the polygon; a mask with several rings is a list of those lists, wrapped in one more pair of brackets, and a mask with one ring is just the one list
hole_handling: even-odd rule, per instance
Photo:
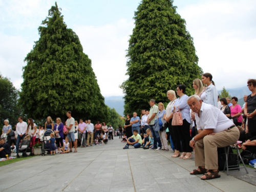
{"label": "dark green tree cut off by the photo's left edge", "polygon": [[14,126],[17,123],[18,116],[22,113],[18,106],[18,90],[15,89],[12,82],[0,75],[0,124],[5,119]]}

